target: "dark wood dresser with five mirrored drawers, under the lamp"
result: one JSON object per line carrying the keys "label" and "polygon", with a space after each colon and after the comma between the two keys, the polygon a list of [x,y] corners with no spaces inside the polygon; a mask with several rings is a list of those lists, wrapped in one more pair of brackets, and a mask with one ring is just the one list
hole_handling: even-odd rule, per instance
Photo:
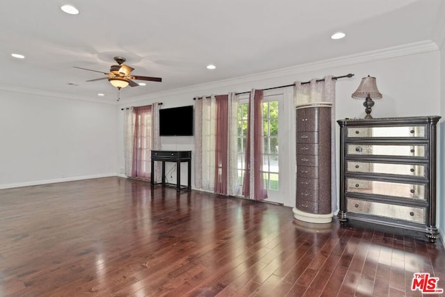
{"label": "dark wood dresser with five mirrored drawers, under the lamp", "polygon": [[439,116],[338,120],[339,220],[424,232],[437,239]]}

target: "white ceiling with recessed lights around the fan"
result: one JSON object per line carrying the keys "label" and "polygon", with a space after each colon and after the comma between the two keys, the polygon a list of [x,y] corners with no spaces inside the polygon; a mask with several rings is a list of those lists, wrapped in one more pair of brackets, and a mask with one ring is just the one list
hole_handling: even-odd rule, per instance
{"label": "white ceiling with recessed lights around the fan", "polygon": [[[113,56],[163,82],[121,98],[412,42],[444,40],[442,0],[13,0],[0,8],[0,88],[115,101]],[[72,4],[79,15],[60,10]],[[345,32],[346,38],[330,35]],[[25,59],[10,56],[19,53]],[[208,64],[216,70],[207,70]],[[138,82],[138,81],[137,81]],[[72,86],[69,83],[77,86]]]}

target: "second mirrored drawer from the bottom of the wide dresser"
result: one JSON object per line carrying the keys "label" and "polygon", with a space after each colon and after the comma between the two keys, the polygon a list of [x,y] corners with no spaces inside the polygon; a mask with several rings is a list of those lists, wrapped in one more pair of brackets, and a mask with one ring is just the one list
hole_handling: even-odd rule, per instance
{"label": "second mirrored drawer from the bottom of the wide dresser", "polygon": [[366,193],[426,200],[425,184],[405,184],[399,182],[381,182],[376,180],[347,178],[346,191],[349,193]]}

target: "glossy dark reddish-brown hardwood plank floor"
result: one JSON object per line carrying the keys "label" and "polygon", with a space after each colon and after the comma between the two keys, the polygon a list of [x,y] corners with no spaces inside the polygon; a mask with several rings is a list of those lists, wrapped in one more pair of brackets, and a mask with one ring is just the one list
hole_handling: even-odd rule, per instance
{"label": "glossy dark reddish-brown hardwood plank floor", "polygon": [[418,272],[445,288],[440,241],[119,177],[0,190],[0,228],[0,296],[421,296]]}

